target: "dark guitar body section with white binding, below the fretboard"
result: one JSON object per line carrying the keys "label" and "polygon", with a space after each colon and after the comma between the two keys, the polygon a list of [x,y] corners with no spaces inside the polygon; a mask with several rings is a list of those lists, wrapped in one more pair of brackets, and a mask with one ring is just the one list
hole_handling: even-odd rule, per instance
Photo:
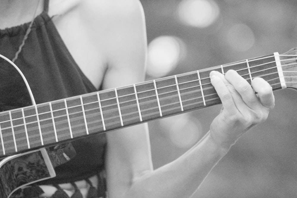
{"label": "dark guitar body section with white binding, below the fretboard", "polygon": [[21,194],[20,188],[55,176],[45,148],[9,156],[0,161],[0,197]]}

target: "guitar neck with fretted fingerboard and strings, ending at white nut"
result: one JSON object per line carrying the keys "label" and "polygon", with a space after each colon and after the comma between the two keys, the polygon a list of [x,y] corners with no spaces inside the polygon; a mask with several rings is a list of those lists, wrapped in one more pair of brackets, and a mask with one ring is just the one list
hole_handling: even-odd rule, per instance
{"label": "guitar neck with fretted fingerboard and strings, ending at white nut", "polygon": [[0,113],[0,157],[220,103],[212,70],[286,88],[278,53]]}

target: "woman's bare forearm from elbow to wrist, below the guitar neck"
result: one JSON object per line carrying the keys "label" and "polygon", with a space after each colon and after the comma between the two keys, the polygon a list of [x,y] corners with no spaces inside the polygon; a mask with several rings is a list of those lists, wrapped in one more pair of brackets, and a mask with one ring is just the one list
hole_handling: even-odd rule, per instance
{"label": "woman's bare forearm from elbow to wrist, below the guitar neck", "polygon": [[175,161],[136,178],[124,197],[190,197],[226,153],[207,133]]}

